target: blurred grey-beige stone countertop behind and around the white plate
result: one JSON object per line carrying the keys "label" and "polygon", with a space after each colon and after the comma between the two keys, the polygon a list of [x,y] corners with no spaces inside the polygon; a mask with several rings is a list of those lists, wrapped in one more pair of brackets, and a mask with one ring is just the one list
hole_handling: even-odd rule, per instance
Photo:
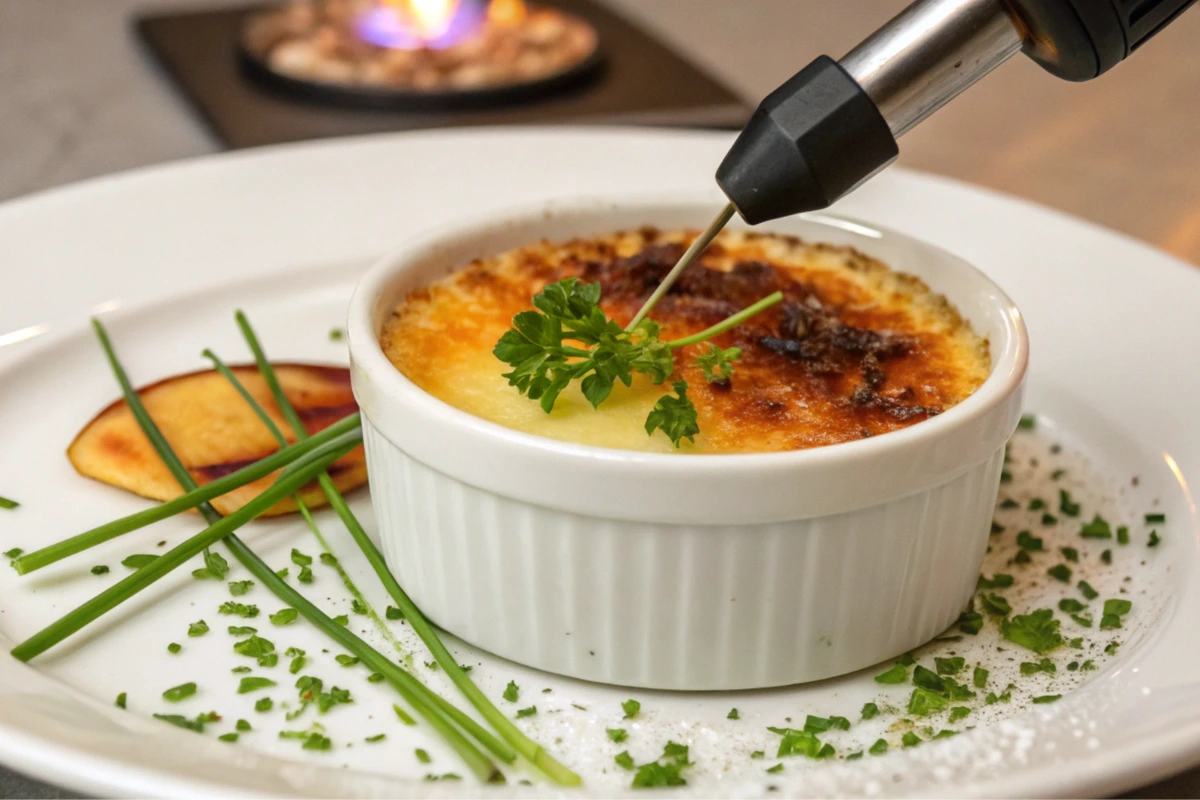
{"label": "blurred grey-beige stone countertop behind and around the white plate", "polygon": [[[220,150],[142,53],[150,8],[244,0],[0,0],[0,200]],[[750,104],[840,56],[904,0],[607,0]],[[1068,84],[1016,59],[901,142],[900,163],[1024,197],[1200,264],[1200,11]],[[0,769],[0,796],[67,793]],[[1200,770],[1130,793],[1198,798]]]}

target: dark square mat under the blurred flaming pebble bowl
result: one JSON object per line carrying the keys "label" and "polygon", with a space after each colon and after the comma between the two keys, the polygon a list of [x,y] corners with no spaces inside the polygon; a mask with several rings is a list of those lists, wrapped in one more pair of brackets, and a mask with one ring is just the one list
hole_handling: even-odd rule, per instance
{"label": "dark square mat under the blurred flaming pebble bowl", "polygon": [[604,66],[583,85],[497,108],[346,108],[269,89],[242,71],[238,36],[253,6],[146,14],[136,26],[217,138],[230,148],[467,125],[608,124],[737,128],[749,110],[714,78],[592,0],[553,0],[590,22]]}

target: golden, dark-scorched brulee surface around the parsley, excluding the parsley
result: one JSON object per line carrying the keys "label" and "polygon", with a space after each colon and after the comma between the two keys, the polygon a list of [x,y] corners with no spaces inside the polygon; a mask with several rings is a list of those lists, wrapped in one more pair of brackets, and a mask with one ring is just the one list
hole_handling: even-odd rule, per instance
{"label": "golden, dark-scorched brulee surface around the parsley, excluding the parsley", "polygon": [[[492,347],[530,297],[564,277],[599,282],[601,306],[625,324],[695,231],[644,228],[563,245],[540,242],[476,260],[413,291],[388,319],[384,353],[451,405],[516,429],[610,447],[674,451],[642,427],[668,386],[638,377],[599,410],[572,387],[547,415],[500,377]],[[780,290],[782,303],[721,335],[739,347],[732,381],[709,384],[677,353],[701,434],[682,452],[799,450],[877,435],[959,403],[988,377],[988,343],[924,283],[847,247],[725,231],[650,317],[670,341]]]}

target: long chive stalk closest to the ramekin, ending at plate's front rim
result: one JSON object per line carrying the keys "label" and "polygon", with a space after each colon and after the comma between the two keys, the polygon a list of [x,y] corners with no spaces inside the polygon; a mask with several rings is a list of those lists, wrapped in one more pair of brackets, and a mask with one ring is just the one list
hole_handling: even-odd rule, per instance
{"label": "long chive stalk closest to the ramekin, ending at plate's front rim", "polygon": [[[775,302],[778,302],[778,300]],[[283,387],[280,385],[275,369],[266,359],[266,354],[263,351],[263,347],[259,343],[258,337],[254,335],[254,330],[251,327],[250,320],[241,311],[236,312],[235,319],[238,321],[238,327],[241,329],[242,337],[246,339],[246,344],[250,345],[251,353],[254,355],[254,362],[258,365],[259,373],[262,373],[263,379],[271,390],[271,395],[275,398],[276,404],[280,407],[283,419],[286,419],[292,426],[296,437],[301,439],[305,438],[307,435],[307,431],[304,427],[304,422],[295,413],[295,409],[288,401],[287,395],[283,393]],[[492,724],[493,728],[496,728],[505,741],[512,745],[518,753],[528,759],[534,766],[540,769],[552,781],[563,786],[578,786],[582,783],[578,775],[554,759],[541,745],[521,733],[521,730],[492,704],[487,696],[485,696],[479,687],[475,686],[470,678],[467,676],[467,673],[458,667],[458,662],[455,661],[452,655],[450,655],[450,651],[445,648],[445,645],[442,644],[438,634],[433,631],[433,626],[431,626],[428,620],[425,619],[425,615],[421,614],[421,612],[416,608],[416,604],[408,597],[408,594],[401,589],[400,583],[388,569],[383,554],[379,553],[374,542],[372,542],[371,537],[367,536],[362,525],[354,516],[354,512],[350,511],[346,499],[342,497],[342,493],[337,491],[337,487],[334,486],[329,475],[319,475],[317,481],[325,492],[325,497],[329,499],[330,506],[337,512],[337,516],[341,517],[347,530],[349,530],[350,536],[361,548],[362,554],[376,571],[376,575],[379,576],[379,581],[388,590],[388,594],[396,601],[396,604],[403,612],[408,622],[413,626],[413,630],[416,631],[416,634],[421,637],[421,640],[430,649],[430,652],[433,654],[434,661],[437,661],[446,675],[450,676],[450,680],[454,681],[455,686],[457,686],[467,699],[470,700],[470,704],[475,706],[475,709]]]}

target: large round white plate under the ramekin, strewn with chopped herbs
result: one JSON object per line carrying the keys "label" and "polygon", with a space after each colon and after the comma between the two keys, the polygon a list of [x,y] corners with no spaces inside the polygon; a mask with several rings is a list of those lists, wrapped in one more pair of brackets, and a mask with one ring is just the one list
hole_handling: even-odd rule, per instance
{"label": "large round white plate under the ramekin, strewn with chopped herbs", "polygon": [[[406,234],[464,212],[546,197],[712,190],[727,143],[721,134],[592,130],[378,137],[205,158],[0,207],[0,494],[23,503],[18,511],[0,512],[0,547],[35,549],[144,507],[79,479],[62,457],[79,426],[116,395],[86,331],[89,314],[106,315],[138,383],[194,368],[205,345],[227,360],[242,360],[232,325],[235,307],[250,313],[274,357],[344,360],[326,332],[342,324],[349,290],[367,261]],[[1104,596],[1129,590],[1134,610],[1116,632],[1123,643],[1117,655],[1097,656],[1100,669],[1085,674],[1068,673],[1067,654],[1055,654],[1056,676],[1022,679],[1013,703],[976,711],[954,727],[977,727],[952,740],[850,763],[794,757],[782,772],[768,775],[774,759],[749,758],[778,744],[766,726],[787,724],[786,717],[799,726],[805,714],[847,716],[854,727],[828,738],[845,754],[894,721],[884,715],[886,722],[859,723],[862,704],[902,705],[905,687],[881,687],[871,680],[878,670],[866,670],[769,692],[630,692],[535,673],[456,642],[451,646],[476,664],[472,675],[491,696],[498,698],[515,679],[523,687],[520,705],[539,708],[522,724],[600,795],[629,786],[629,774],[612,763],[616,752],[628,747],[643,762],[668,739],[690,744],[689,790],[697,795],[772,789],[812,796],[1112,794],[1200,762],[1198,529],[1187,491],[1200,475],[1193,422],[1200,377],[1187,368],[1198,362],[1200,275],[1052,211],[902,170],[884,173],[838,210],[962,255],[994,276],[1026,313],[1033,342],[1030,407],[1045,416],[1014,446],[1014,481],[1007,491],[1021,500],[1036,493],[1051,499],[1061,483],[1082,500],[1085,513],[1100,510],[1110,519],[1132,521],[1134,541],[1112,546],[1111,570],[1096,566],[1102,547],[1080,540],[1075,528],[1046,535],[1048,547],[1080,549],[1088,565],[1084,573]],[[1043,452],[1051,441],[1066,445],[1052,458]],[[1031,455],[1040,458],[1037,469],[1027,467]],[[1060,461],[1069,471],[1051,481],[1050,462]],[[360,494],[354,505],[370,523],[366,498]],[[1145,548],[1141,515],[1148,510],[1169,517],[1157,549]],[[998,518],[1009,530],[996,539],[989,573],[1012,555],[1013,530],[1037,522],[1025,511]],[[372,601],[385,604],[365,565],[352,558],[344,531],[329,515],[320,522]],[[124,555],[154,552],[160,540],[178,542],[196,527],[194,518],[172,519],[29,578],[0,573],[0,644],[11,646],[115,581]],[[311,535],[294,522],[256,524],[246,537],[278,566],[298,542],[316,552]],[[1039,566],[1031,569],[1057,561],[1038,558]],[[113,572],[91,576],[92,564],[108,564]],[[870,590],[871,569],[894,567],[864,565],[857,590]],[[332,573],[317,576],[318,600],[335,613],[346,610]],[[1018,612],[1070,594],[1052,581],[1038,583],[1012,594]],[[322,639],[306,625],[271,630],[259,618],[258,627],[280,650],[306,649],[313,656],[306,672],[350,686],[356,698],[322,718],[335,752],[310,753],[278,740],[280,729],[314,717],[290,726],[283,721],[280,704],[294,690],[282,666],[272,675],[281,686],[271,690],[271,714],[252,710],[254,696],[234,693],[236,675],[228,670],[238,657],[223,627],[241,620],[216,614],[227,596],[222,587],[179,576],[31,666],[0,658],[0,760],[82,792],[118,795],[482,792],[468,781],[421,781],[430,771],[462,769],[424,726],[396,721],[390,690],[367,684],[359,669],[340,667],[335,654],[320,654]],[[259,603],[264,614],[278,606],[262,587],[245,600]],[[200,618],[214,630],[187,638],[187,624]],[[1064,622],[1064,632],[1072,625]],[[968,663],[986,660],[992,685],[1002,685],[1030,654],[1012,645],[997,654],[994,628],[989,622],[978,639],[943,643],[937,651],[960,648]],[[412,644],[404,630],[400,636]],[[1114,633],[1093,631],[1090,640],[1109,638]],[[180,642],[184,651],[169,655],[168,642]],[[923,652],[923,663],[931,655]],[[420,667],[420,651],[415,662],[457,702],[440,673]],[[196,680],[200,692],[167,708],[161,691],[186,680]],[[544,694],[547,687],[553,691]],[[130,693],[130,711],[113,706],[120,691]],[[1032,694],[1060,692],[1066,697],[1058,703],[1027,703]],[[622,723],[619,702],[631,696],[643,710]],[[725,718],[731,706],[740,720]],[[248,718],[256,733],[226,745],[148,717],[210,708],[226,717],[214,734],[232,729],[236,717]],[[608,742],[606,727],[626,727],[629,740]],[[936,727],[949,727],[944,715]],[[383,732],[385,742],[362,741]],[[418,746],[431,752],[432,765],[416,762]],[[517,786],[522,777],[536,780],[511,771],[505,792],[552,793],[541,783]]]}

